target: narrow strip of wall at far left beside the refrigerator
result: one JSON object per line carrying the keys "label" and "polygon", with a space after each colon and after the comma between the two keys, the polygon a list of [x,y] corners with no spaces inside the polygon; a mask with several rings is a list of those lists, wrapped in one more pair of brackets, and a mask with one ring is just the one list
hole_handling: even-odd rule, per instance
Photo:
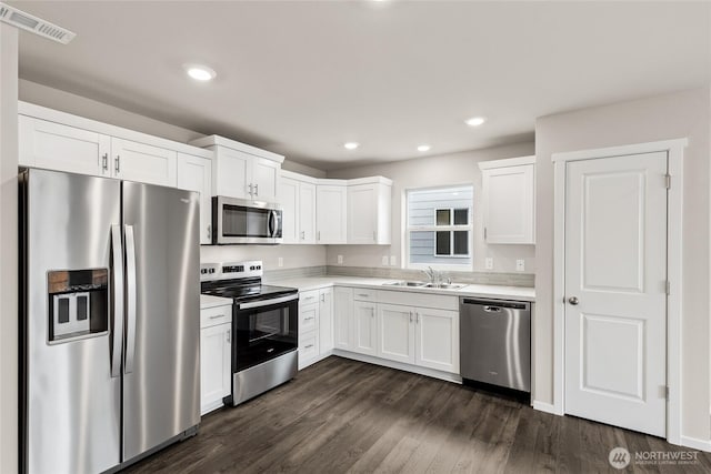
{"label": "narrow strip of wall at far left beside the refrigerator", "polygon": [[0,472],[18,471],[18,30],[0,23]]}

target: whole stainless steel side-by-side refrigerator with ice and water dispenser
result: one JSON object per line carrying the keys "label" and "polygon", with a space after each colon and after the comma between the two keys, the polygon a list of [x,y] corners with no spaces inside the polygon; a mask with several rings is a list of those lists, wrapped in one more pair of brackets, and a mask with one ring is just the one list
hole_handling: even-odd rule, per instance
{"label": "whole stainless steel side-by-side refrigerator with ice and water dispenser", "polygon": [[21,466],[116,471],[200,422],[199,196],[20,174]]}

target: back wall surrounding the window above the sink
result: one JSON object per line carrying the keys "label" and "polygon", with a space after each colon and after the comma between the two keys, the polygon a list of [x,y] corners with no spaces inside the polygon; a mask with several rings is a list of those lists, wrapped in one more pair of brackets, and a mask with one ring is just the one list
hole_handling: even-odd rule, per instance
{"label": "back wall surrounding the window above the sink", "polygon": [[328,172],[329,178],[363,178],[383,175],[393,180],[392,185],[392,244],[391,245],[329,245],[327,262],[338,264],[343,255],[344,266],[383,266],[382,255],[397,255],[397,268],[402,268],[402,236],[404,192],[413,188],[448,184],[474,185],[474,271],[484,271],[484,259],[494,260],[494,272],[514,272],[515,260],[525,261],[525,272],[535,271],[534,245],[488,245],[483,241],[481,209],[480,161],[499,160],[533,154],[532,142],[474,150],[460,153],[418,158],[384,164],[370,164]]}

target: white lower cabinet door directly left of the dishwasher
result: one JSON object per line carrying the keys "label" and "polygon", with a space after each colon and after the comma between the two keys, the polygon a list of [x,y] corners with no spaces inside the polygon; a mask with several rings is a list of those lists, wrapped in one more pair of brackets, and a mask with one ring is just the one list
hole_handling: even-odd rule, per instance
{"label": "white lower cabinet door directly left of the dishwasher", "polygon": [[459,373],[459,312],[415,310],[415,363]]}

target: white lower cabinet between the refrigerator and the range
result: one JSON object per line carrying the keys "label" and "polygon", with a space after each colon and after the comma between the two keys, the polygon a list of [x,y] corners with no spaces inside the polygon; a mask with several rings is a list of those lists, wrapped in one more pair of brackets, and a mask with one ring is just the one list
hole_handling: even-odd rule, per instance
{"label": "white lower cabinet between the refrigerator and the range", "polygon": [[232,305],[200,311],[200,414],[222,406],[231,387]]}

